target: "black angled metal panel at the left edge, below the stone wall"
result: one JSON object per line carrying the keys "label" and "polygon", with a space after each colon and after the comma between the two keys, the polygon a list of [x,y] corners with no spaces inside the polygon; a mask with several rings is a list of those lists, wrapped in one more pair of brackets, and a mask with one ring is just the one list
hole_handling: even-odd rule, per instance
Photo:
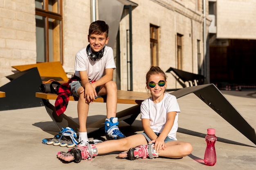
{"label": "black angled metal panel at the left edge, below the stone wall", "polygon": [[37,68],[6,77],[11,81],[0,87],[5,92],[5,98],[0,98],[0,111],[43,106],[42,100],[35,96],[42,84]]}

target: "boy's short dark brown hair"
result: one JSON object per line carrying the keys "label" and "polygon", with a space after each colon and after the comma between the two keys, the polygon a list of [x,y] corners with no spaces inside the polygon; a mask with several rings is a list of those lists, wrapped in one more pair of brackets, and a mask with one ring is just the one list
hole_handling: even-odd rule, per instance
{"label": "boy's short dark brown hair", "polygon": [[109,30],[109,26],[108,24],[106,24],[105,21],[97,20],[90,24],[89,35],[91,34],[102,35],[103,33],[106,33],[106,38],[108,38],[108,30]]}

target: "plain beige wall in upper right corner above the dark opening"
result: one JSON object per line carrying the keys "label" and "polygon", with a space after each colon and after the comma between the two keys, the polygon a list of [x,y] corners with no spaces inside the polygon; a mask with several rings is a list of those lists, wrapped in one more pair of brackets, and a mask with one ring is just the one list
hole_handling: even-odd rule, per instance
{"label": "plain beige wall in upper right corner above the dark opening", "polygon": [[255,0],[218,0],[217,39],[256,39],[255,7]]}

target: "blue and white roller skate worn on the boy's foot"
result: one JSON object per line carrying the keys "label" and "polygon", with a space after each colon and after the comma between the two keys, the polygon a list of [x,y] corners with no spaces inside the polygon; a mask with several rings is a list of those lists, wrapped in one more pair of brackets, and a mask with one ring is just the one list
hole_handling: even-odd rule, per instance
{"label": "blue and white roller skate worn on the boy's foot", "polygon": [[106,119],[105,121],[105,136],[108,140],[112,139],[122,139],[126,136],[119,131],[118,125],[118,118],[110,118]]}

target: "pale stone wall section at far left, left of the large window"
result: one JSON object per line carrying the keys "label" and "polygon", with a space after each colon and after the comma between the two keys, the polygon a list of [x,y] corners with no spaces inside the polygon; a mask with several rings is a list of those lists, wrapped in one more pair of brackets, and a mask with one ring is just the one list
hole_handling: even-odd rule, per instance
{"label": "pale stone wall section at far left, left of the large window", "polygon": [[36,63],[34,0],[0,1],[0,86],[9,82],[12,65]]}

